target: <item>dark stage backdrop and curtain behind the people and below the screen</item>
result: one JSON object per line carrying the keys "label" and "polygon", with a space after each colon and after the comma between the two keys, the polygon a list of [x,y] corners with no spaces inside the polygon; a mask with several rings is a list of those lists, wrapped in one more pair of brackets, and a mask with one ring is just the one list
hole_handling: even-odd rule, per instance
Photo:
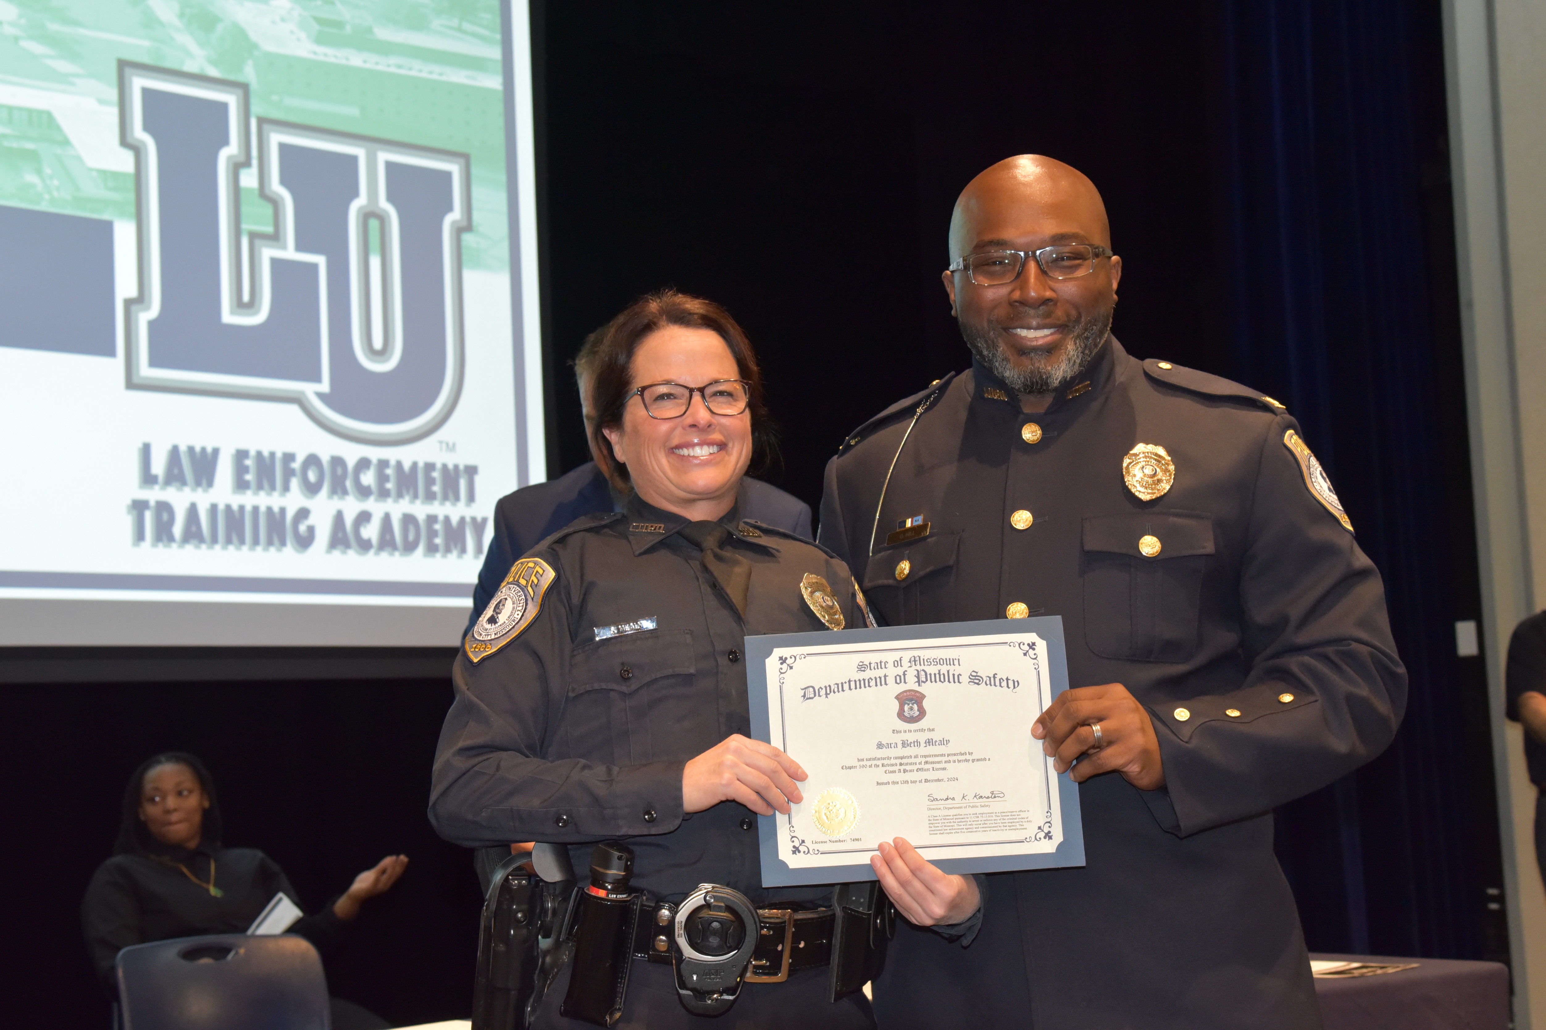
{"label": "dark stage backdrop and curtain behind the people and below the screen", "polygon": [[[1286,402],[1387,577],[1402,732],[1279,813],[1309,946],[1506,957],[1481,659],[1453,646],[1480,602],[1436,0],[533,0],[533,48],[553,475],[586,459],[564,363],[673,285],[747,328],[771,478],[815,507],[844,433],[968,362],[938,283],[962,186],[1014,153],[1074,164],[1124,258],[1124,345]],[[479,899],[424,820],[445,667],[0,654],[8,1021],[105,1025],[76,906],[165,749],[204,756],[227,843],[309,906],[407,852],[329,982],[394,1022],[464,1018]]]}

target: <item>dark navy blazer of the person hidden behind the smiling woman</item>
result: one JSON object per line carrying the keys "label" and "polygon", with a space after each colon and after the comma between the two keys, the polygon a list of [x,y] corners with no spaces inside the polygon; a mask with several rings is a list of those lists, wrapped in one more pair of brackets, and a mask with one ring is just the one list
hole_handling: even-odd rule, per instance
{"label": "dark navy blazer of the person hidden behind the smiling woman", "polygon": [[[620,510],[620,504],[614,501],[612,489],[594,461],[557,479],[533,483],[499,498],[493,512],[493,538],[489,541],[484,566],[478,572],[473,609],[462,636],[472,631],[473,619],[493,600],[495,591],[516,558],[581,515],[615,510]],[[741,481],[737,510],[742,518],[787,529],[805,538],[812,535],[810,506],[761,479],[748,476]]]}

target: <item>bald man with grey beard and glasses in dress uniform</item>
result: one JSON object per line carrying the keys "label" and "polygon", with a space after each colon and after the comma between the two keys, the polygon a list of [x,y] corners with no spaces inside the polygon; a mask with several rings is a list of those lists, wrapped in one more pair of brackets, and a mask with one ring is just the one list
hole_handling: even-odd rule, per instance
{"label": "bald man with grey beard and glasses in dress uniform", "polygon": [[[914,903],[878,1025],[1319,1027],[1272,809],[1396,732],[1379,572],[1282,404],[1112,336],[1084,175],[985,170],[949,261],[971,368],[849,435],[819,538],[889,625],[1062,617],[1070,690],[1027,733],[1079,784],[1085,865],[979,877],[954,925]],[[873,865],[926,894],[911,848]]]}

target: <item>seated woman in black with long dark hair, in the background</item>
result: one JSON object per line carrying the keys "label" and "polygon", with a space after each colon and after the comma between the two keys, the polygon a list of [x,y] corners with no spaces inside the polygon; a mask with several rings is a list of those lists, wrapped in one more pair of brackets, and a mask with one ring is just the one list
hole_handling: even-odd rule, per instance
{"label": "seated woman in black with long dark hair, in the background", "polygon": [[[97,866],[80,902],[91,965],[110,994],[117,994],[114,962],[122,948],[246,933],[280,892],[301,908],[300,894],[272,858],[255,848],[223,848],[220,834],[215,783],[193,755],[156,755],[130,776],[113,857]],[[391,889],[407,868],[407,855],[382,858],[331,905],[300,917],[286,933],[326,954],[343,940],[360,905]],[[365,1030],[386,1024],[334,999],[332,1025]]]}

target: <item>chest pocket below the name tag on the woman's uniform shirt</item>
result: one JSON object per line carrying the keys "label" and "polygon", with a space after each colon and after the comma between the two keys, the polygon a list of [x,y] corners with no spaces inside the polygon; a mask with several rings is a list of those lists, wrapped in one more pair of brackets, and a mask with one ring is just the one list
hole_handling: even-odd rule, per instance
{"label": "chest pocket below the name tag on the woman's uniform shirt", "polygon": [[564,732],[570,755],[635,766],[659,761],[651,711],[691,690],[691,629],[651,629],[575,648],[569,659]]}

